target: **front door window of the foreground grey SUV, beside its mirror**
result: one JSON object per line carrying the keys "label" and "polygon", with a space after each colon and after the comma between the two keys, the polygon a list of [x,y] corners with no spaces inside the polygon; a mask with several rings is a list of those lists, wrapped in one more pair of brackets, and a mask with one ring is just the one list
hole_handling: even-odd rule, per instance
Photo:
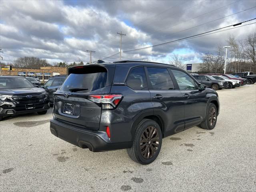
{"label": "front door window of the foreground grey SUV, beside its mirror", "polygon": [[172,69],[172,73],[177,80],[180,90],[194,90],[197,89],[197,84],[194,80],[183,71]]}

